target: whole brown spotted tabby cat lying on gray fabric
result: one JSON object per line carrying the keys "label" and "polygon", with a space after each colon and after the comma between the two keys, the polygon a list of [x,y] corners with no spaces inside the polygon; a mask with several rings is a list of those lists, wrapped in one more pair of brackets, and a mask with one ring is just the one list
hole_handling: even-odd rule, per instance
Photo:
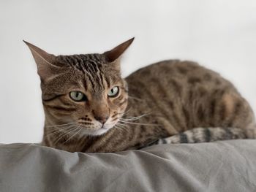
{"label": "whole brown spotted tabby cat lying on gray fabric", "polygon": [[120,58],[133,40],[102,54],[58,56],[24,41],[41,80],[42,145],[91,153],[256,137],[248,102],[195,62],[161,61],[122,78]]}

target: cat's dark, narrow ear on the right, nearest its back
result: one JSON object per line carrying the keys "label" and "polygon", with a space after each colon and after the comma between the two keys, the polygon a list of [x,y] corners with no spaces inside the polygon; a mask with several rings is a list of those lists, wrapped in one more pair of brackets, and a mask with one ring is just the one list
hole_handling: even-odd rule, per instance
{"label": "cat's dark, narrow ear on the right, nearest its back", "polygon": [[108,59],[108,62],[113,62],[116,61],[120,56],[124,53],[125,50],[129,47],[129,45],[132,44],[133,40],[135,38],[133,37],[132,39],[127,40],[126,42],[121,43],[120,45],[116,46],[112,50],[109,50],[105,53],[105,57]]}

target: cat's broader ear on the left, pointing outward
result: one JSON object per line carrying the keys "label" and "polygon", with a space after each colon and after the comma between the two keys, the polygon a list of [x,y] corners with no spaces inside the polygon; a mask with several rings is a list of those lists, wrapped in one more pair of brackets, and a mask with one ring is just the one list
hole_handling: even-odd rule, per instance
{"label": "cat's broader ear on the left, pointing outward", "polygon": [[34,57],[34,61],[37,64],[37,73],[42,81],[48,80],[52,77],[56,70],[59,69],[59,66],[54,65],[56,56],[41,50],[39,47],[32,45],[29,42],[23,40],[23,42],[28,45],[31,53]]}

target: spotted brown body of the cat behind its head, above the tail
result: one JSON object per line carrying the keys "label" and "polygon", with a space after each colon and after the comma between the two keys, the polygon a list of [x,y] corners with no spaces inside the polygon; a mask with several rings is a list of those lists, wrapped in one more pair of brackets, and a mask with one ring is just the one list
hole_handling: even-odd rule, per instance
{"label": "spotted brown body of the cat behind its head, above the tail", "polygon": [[129,105],[136,106],[132,115],[152,112],[146,122],[170,127],[170,134],[195,127],[241,127],[245,121],[236,117],[252,116],[231,82],[192,61],[161,61],[126,80]]}

